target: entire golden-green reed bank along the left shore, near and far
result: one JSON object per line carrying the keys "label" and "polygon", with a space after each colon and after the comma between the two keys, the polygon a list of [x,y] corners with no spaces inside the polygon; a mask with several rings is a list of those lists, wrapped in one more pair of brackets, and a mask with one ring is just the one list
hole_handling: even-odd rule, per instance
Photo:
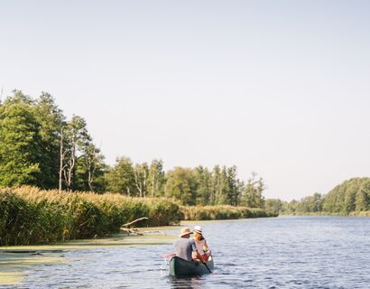
{"label": "entire golden-green reed bank along the left shore, near and far", "polygon": [[130,198],[121,194],[0,189],[0,246],[51,244],[97,238],[119,232],[134,219],[136,226],[178,224],[181,219],[272,217],[260,209],[232,206],[182,207],[164,198]]}

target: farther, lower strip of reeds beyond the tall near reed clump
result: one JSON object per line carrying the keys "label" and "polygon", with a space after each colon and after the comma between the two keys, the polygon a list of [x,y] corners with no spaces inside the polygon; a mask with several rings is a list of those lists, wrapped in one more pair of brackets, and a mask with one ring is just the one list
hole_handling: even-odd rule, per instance
{"label": "farther, lower strip of reeds beyond the tall near reed clump", "polygon": [[184,219],[186,220],[206,220],[206,219],[245,219],[276,217],[277,214],[266,212],[262,209],[251,209],[246,207],[233,206],[181,206]]}

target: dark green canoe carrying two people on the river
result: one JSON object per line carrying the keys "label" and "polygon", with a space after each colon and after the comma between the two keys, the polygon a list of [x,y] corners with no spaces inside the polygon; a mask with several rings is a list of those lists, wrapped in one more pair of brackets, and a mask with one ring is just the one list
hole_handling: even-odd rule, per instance
{"label": "dark green canoe carrying two people on the river", "polygon": [[212,256],[208,259],[207,262],[204,262],[204,263],[207,266],[200,262],[187,261],[187,260],[181,259],[178,256],[172,256],[170,259],[170,275],[189,276],[189,275],[203,275],[203,274],[211,273],[214,270]]}

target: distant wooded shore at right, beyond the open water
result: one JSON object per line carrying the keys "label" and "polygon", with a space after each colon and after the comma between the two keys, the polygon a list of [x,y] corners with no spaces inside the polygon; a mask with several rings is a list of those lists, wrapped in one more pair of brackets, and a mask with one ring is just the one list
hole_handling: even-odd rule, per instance
{"label": "distant wooded shore at right, beyond the open water", "polygon": [[287,214],[338,214],[370,211],[370,178],[354,178],[336,186],[328,194],[315,193],[301,200],[290,202],[269,199],[265,201],[267,210]]}

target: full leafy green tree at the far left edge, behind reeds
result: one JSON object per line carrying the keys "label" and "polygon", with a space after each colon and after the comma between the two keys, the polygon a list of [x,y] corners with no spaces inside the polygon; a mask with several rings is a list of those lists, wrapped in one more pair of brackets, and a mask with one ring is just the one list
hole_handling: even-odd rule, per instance
{"label": "full leafy green tree at the far left edge, behind reeds", "polygon": [[14,90],[0,106],[0,185],[40,185],[42,139],[32,99]]}

